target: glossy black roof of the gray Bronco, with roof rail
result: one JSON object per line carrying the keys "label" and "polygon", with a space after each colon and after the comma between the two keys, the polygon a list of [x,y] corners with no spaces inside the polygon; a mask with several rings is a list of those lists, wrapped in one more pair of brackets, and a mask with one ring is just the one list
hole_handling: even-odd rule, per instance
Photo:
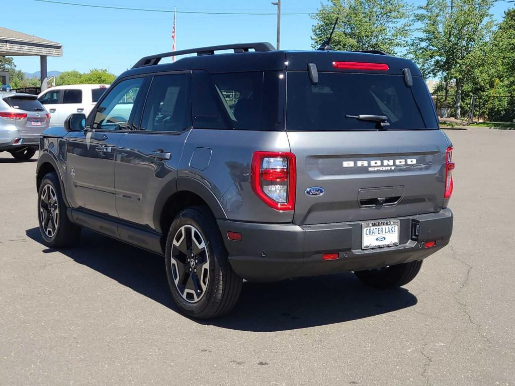
{"label": "glossy black roof of the gray Bronco, with roof rail", "polygon": [[[253,45],[259,45],[258,48],[255,48],[255,51],[248,51],[245,48],[253,48]],[[234,53],[214,54],[216,49],[233,48]],[[180,55],[182,52],[187,52],[188,54],[197,53],[197,56],[178,58],[174,63],[153,64],[156,61],[159,62],[162,58],[177,54]],[[413,76],[421,76],[420,70],[412,61],[384,55],[383,53],[375,54],[370,52],[327,50],[274,50],[269,43],[248,43],[202,47],[145,57],[120,77],[125,78],[127,76],[147,73],[190,70],[204,70],[213,74],[249,71],[307,71],[308,63],[315,63],[319,72],[342,72],[342,70],[333,67],[333,62],[335,61],[384,63],[388,65],[388,71],[367,70],[367,73],[402,75],[403,68],[409,68]],[[346,69],[345,72],[363,73],[364,71]]]}

